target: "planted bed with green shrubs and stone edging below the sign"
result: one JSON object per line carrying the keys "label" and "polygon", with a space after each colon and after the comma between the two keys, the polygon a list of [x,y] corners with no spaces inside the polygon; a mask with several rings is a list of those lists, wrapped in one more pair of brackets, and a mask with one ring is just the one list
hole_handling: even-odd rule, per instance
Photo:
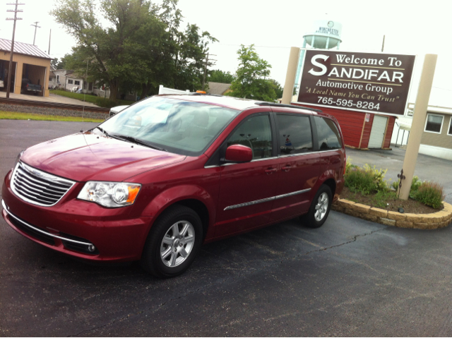
{"label": "planted bed with green shrubs and stone edging below the sign", "polygon": [[444,202],[444,189],[439,183],[421,181],[415,176],[411,182],[410,198],[400,200],[398,188],[408,182],[403,172],[396,181],[392,178],[386,181],[386,171],[369,164],[357,167],[349,157],[345,186],[340,199],[331,208],[393,227],[439,229],[451,223],[452,205]]}

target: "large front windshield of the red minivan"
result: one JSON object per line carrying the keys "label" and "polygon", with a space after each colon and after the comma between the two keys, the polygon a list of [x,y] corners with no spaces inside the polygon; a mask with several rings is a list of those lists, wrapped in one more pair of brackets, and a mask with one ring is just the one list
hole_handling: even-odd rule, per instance
{"label": "large front windshield of the red minivan", "polygon": [[211,104],[150,97],[114,115],[100,128],[130,142],[198,156],[237,114],[238,110]]}

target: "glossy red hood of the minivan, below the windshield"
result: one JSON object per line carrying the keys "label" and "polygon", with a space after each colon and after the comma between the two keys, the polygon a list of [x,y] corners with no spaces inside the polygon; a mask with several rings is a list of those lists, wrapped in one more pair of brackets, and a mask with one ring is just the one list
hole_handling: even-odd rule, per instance
{"label": "glossy red hood of the minivan, below the windshield", "polygon": [[34,145],[20,157],[32,167],[74,181],[124,181],[185,158],[90,131]]}

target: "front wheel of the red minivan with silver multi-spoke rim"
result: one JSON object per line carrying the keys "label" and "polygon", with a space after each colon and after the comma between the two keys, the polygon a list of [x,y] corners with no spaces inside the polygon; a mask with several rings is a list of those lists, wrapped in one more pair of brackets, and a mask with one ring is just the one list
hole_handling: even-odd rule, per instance
{"label": "front wheel of the red minivan with silver multi-spoke rim", "polygon": [[169,207],[151,227],[141,267],[159,278],[175,277],[194,261],[203,238],[201,219],[183,205]]}

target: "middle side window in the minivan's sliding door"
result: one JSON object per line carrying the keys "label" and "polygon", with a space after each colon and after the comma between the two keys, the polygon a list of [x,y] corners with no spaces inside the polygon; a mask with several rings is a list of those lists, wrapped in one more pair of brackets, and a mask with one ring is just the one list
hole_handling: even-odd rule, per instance
{"label": "middle side window in the minivan's sliding door", "polygon": [[312,151],[309,116],[280,114],[277,116],[281,155],[302,154]]}

